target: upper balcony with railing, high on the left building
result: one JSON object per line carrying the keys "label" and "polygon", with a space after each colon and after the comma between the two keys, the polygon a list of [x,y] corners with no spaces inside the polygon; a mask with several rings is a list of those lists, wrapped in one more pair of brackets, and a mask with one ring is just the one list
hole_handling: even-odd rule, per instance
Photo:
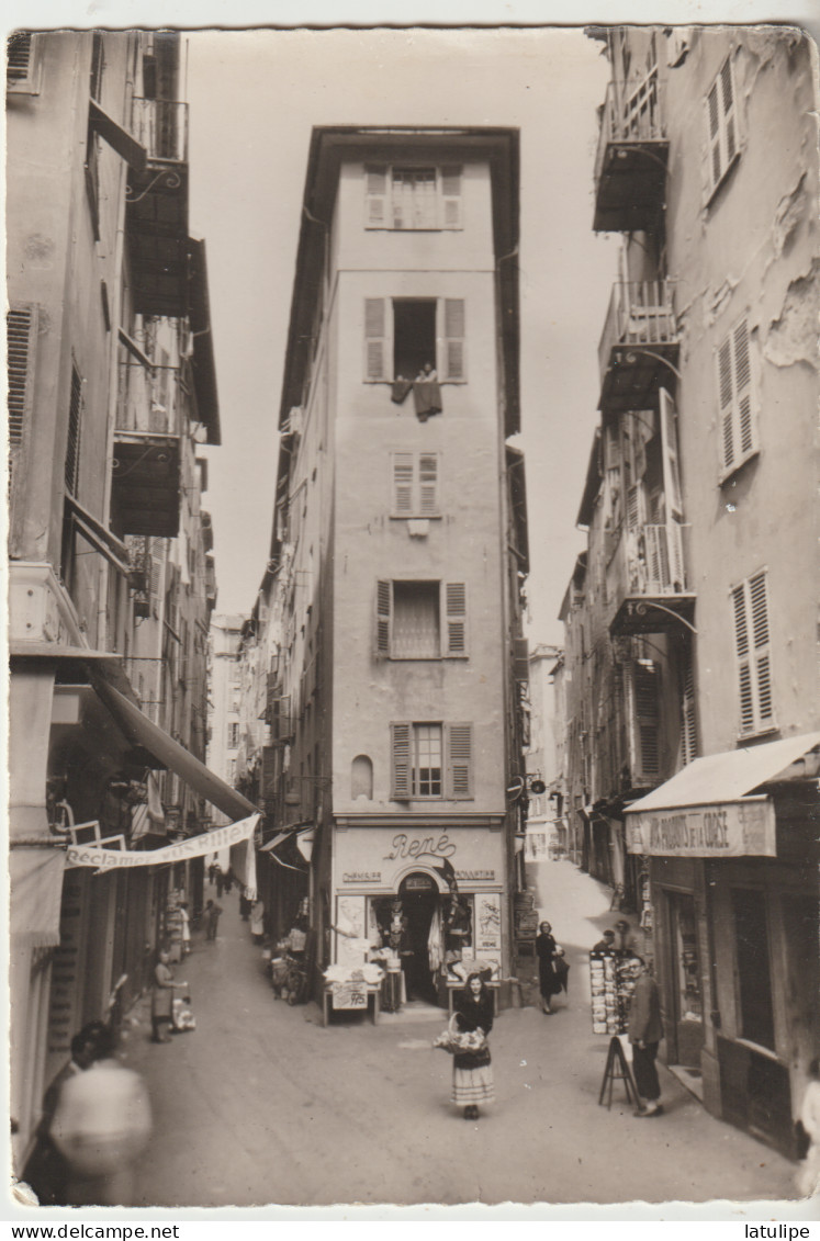
{"label": "upper balcony with railing, high on the left building", "polygon": [[188,310],[188,104],[134,99],[130,133],[147,155],[128,176],[134,309],[180,316]]}

